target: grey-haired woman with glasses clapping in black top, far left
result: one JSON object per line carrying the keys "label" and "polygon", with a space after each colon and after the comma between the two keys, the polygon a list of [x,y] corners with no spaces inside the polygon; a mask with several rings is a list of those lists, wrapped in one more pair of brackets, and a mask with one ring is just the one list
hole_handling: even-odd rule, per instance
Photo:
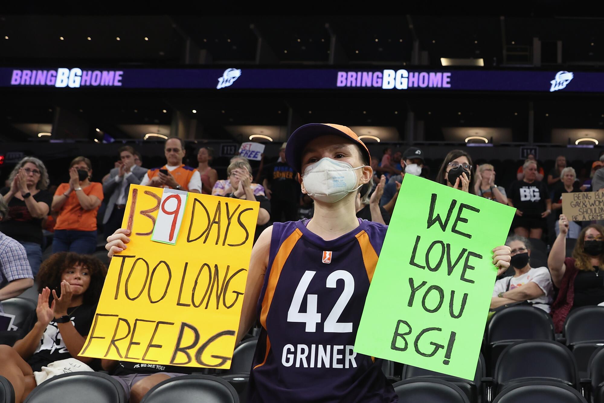
{"label": "grey-haired woman with glasses clapping in black top, far left", "polygon": [[42,221],[53,203],[47,191],[48,171],[42,161],[26,156],[14,167],[8,182],[10,187],[0,189],[8,204],[8,216],[0,222],[0,231],[23,245],[36,276],[42,263]]}

